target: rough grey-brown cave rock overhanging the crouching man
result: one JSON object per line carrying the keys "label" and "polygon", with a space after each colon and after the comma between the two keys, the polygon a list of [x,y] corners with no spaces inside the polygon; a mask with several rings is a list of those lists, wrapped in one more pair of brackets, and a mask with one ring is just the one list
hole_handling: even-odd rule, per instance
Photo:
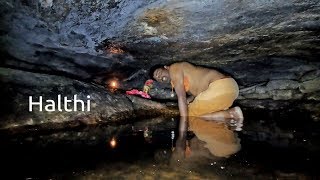
{"label": "rough grey-brown cave rock overhanging the crouching man", "polygon": [[[57,81],[68,78],[83,86],[105,86],[116,78],[126,90],[142,88],[156,64],[189,61],[233,76],[241,88],[236,103],[244,108],[289,109],[320,117],[317,0],[0,4],[3,68]],[[11,80],[6,82],[17,81]],[[170,88],[159,85],[152,92],[155,99],[167,100],[169,94]],[[131,103],[123,95],[107,97]],[[106,106],[112,104],[108,102]]]}

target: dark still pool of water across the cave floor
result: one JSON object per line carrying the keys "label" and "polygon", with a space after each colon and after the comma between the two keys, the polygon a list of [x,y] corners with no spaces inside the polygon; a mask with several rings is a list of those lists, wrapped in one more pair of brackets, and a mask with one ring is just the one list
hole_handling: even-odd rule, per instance
{"label": "dark still pool of water across the cave floor", "polygon": [[[301,121],[304,121],[302,124]],[[192,124],[193,123],[193,124]],[[1,134],[1,177],[20,179],[317,179],[319,123],[245,119],[242,131],[189,122],[178,153],[178,118],[68,132]],[[192,126],[192,127],[191,127]],[[120,131],[121,129],[121,131]],[[59,140],[56,140],[59,139]],[[112,147],[111,141],[116,142]],[[221,157],[227,156],[227,157]],[[2,178],[3,179],[3,178]]]}

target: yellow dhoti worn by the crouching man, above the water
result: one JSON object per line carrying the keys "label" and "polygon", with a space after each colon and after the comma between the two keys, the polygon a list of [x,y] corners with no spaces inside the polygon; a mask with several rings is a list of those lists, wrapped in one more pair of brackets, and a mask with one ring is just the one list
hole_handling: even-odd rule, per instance
{"label": "yellow dhoti worn by the crouching man, above the water", "polygon": [[189,116],[201,116],[228,109],[239,95],[239,87],[233,78],[224,78],[210,83],[188,106]]}

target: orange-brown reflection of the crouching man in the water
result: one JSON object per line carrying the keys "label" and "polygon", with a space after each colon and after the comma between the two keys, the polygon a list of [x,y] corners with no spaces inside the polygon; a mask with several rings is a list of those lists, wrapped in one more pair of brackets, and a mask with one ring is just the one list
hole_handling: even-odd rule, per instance
{"label": "orange-brown reflection of the crouching man in the water", "polygon": [[[237,153],[241,145],[234,129],[230,122],[180,117],[173,161],[208,157],[208,152],[214,157],[229,157]],[[192,131],[195,137],[188,139],[188,131]]]}

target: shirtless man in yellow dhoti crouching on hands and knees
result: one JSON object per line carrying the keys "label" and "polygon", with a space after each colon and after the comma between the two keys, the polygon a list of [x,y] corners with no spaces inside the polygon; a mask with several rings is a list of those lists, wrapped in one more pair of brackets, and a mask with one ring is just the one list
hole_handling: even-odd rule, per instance
{"label": "shirtless man in yellow dhoti crouching on hands and knees", "polygon": [[[153,78],[159,82],[171,83],[178,96],[182,117],[195,116],[225,122],[243,121],[240,107],[230,108],[239,95],[239,87],[229,76],[188,62],[178,62],[156,69]],[[188,99],[187,93],[191,94]]]}

